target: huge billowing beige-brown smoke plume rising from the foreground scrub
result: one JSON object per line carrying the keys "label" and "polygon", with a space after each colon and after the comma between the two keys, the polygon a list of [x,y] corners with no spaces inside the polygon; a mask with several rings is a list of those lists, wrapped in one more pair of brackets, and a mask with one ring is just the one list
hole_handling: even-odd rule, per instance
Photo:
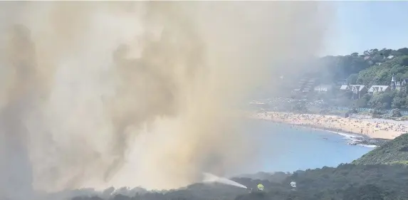
{"label": "huge billowing beige-brown smoke plume rising from the foreground scrub", "polygon": [[236,108],[318,53],[329,19],[319,2],[0,4],[6,197],[243,172],[258,139]]}

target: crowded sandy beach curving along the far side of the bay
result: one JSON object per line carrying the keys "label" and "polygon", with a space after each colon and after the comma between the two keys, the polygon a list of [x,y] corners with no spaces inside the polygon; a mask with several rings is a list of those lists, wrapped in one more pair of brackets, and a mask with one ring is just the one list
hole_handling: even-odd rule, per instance
{"label": "crowded sandy beach curving along the far side of the bay", "polygon": [[368,117],[338,117],[332,115],[295,114],[288,112],[263,112],[251,117],[272,122],[283,122],[291,125],[315,127],[322,130],[353,133],[371,138],[392,140],[408,132],[408,122]]}

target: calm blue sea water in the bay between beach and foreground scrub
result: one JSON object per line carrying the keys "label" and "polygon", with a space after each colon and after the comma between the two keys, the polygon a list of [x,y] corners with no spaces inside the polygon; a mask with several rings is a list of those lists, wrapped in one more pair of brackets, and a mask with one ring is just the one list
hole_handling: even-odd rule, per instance
{"label": "calm blue sea water in the bay between beach and foreground scrub", "polygon": [[372,147],[347,144],[347,137],[325,130],[249,120],[247,125],[258,145],[257,169],[253,172],[294,172],[298,169],[337,167],[349,163]]}

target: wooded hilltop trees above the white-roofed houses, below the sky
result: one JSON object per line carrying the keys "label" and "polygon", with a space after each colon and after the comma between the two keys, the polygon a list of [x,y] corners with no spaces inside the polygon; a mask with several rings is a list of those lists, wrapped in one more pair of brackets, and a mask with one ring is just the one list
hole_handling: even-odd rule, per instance
{"label": "wooded hilltop trees above the white-roofed houses, below the sky", "polygon": [[392,50],[377,48],[362,54],[351,53],[346,56],[325,56],[320,59],[322,74],[328,80],[348,78],[351,84],[388,84],[394,74],[397,78],[408,78],[408,48]]}

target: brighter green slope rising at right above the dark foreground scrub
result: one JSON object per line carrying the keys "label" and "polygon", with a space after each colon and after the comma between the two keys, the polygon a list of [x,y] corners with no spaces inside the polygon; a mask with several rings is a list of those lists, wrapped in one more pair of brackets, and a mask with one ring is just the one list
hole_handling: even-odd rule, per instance
{"label": "brighter green slope rising at right above the dark foreground scrub", "polygon": [[352,164],[408,164],[408,134],[373,149]]}

